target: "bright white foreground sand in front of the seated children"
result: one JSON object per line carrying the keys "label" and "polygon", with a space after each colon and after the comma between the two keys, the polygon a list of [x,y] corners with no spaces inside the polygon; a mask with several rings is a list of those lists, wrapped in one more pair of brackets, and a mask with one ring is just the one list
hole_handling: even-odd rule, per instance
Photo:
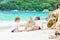
{"label": "bright white foreground sand in front of the seated children", "polygon": [[[38,30],[31,32],[17,32],[8,33],[0,32],[1,40],[49,40],[49,35],[53,33],[52,30]],[[3,35],[3,36],[2,36]]]}

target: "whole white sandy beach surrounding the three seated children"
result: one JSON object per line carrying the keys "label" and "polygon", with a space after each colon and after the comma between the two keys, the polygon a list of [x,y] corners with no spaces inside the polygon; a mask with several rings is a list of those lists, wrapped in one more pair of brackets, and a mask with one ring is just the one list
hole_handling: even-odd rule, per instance
{"label": "whole white sandy beach surrounding the three seated children", "polygon": [[[49,40],[49,35],[54,34],[54,30],[50,29],[11,33],[10,29],[13,22],[14,21],[0,21],[1,40]],[[46,26],[46,21],[43,22],[44,26]],[[21,21],[21,23],[26,23],[26,21]]]}

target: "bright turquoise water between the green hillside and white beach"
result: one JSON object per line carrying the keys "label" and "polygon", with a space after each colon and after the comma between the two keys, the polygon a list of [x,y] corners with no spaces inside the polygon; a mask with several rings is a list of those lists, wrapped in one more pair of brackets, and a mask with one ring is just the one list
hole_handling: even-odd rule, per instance
{"label": "bright turquoise water between the green hillside and white beach", "polygon": [[39,16],[41,20],[46,19],[47,12],[20,12],[20,11],[0,11],[0,21],[14,20],[15,17],[20,17],[21,20],[27,20],[29,16],[33,19]]}

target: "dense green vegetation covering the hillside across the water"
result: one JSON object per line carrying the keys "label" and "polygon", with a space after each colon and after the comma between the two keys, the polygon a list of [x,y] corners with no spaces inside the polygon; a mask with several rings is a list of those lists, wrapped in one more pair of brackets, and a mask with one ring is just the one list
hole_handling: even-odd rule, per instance
{"label": "dense green vegetation covering the hillside across the water", "polygon": [[60,0],[0,0],[0,10],[54,10]]}

